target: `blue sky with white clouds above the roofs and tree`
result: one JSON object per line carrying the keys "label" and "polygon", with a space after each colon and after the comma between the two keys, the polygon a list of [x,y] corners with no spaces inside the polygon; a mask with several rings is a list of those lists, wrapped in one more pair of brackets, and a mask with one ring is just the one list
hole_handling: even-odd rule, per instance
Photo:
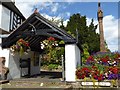
{"label": "blue sky with white clouds above the roofs and tree", "polygon": [[[89,2],[88,2],[89,1]],[[103,29],[104,38],[108,48],[111,51],[118,51],[118,0],[109,0],[110,2],[101,1],[101,9],[103,11]],[[94,19],[94,24],[97,25],[97,10],[98,2],[96,0],[15,0],[15,4],[23,15],[28,18],[38,8],[41,15],[47,19],[63,19],[66,26],[70,16],[75,13],[80,13],[87,17],[87,25],[91,19]],[[99,33],[99,28],[97,28]]]}

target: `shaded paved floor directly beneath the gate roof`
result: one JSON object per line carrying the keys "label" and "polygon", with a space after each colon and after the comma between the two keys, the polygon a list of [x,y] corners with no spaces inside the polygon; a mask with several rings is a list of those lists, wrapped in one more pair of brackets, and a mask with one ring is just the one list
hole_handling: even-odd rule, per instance
{"label": "shaded paved floor directly beneath the gate roof", "polygon": [[35,82],[61,82],[62,72],[41,71],[41,74],[30,77],[22,77],[13,81],[35,81]]}

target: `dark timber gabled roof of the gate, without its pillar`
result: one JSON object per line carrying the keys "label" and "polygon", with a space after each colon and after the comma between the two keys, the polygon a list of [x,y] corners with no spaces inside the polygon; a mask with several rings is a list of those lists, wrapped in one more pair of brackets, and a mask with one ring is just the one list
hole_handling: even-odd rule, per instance
{"label": "dark timber gabled roof of the gate, without its pillar", "polygon": [[30,43],[32,51],[40,52],[40,42],[50,36],[57,40],[64,40],[66,44],[74,44],[77,42],[76,39],[66,31],[45,19],[39,13],[33,13],[22,25],[3,40],[2,47],[9,48],[15,44],[18,39],[23,38]]}

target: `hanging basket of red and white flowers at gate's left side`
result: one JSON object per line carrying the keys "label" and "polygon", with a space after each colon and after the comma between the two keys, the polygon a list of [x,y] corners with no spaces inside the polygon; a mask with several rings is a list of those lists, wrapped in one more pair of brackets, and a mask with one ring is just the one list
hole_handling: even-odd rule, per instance
{"label": "hanging basket of red and white flowers at gate's left side", "polygon": [[19,39],[16,44],[12,45],[10,47],[10,51],[15,54],[19,53],[20,56],[22,56],[24,53],[28,53],[30,51],[30,46],[28,41],[25,41],[23,39]]}

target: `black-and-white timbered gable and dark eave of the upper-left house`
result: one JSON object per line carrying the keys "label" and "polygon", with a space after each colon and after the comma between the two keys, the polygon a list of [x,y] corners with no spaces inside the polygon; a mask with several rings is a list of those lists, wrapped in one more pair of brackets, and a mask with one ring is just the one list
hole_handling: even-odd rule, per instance
{"label": "black-and-white timbered gable and dark eave of the upper-left house", "polygon": [[12,32],[15,30],[25,19],[22,13],[18,10],[13,2],[4,2],[0,1],[5,8],[10,10],[10,24],[9,24],[9,31]]}

